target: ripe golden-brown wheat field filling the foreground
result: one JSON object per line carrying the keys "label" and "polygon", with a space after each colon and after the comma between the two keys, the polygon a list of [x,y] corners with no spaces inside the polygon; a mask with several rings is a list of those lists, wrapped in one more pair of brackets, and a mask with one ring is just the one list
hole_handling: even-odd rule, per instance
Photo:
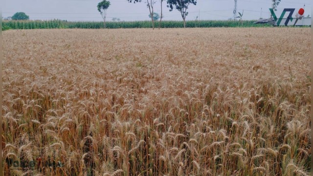
{"label": "ripe golden-brown wheat field filling the foreground", "polygon": [[5,176],[309,174],[309,28],[2,37]]}

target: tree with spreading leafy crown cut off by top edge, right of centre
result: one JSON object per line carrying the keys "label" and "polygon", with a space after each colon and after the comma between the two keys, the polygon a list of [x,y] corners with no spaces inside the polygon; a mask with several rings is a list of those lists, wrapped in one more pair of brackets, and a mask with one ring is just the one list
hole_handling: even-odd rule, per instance
{"label": "tree with spreading leafy crown cut off by top edge, right of centre", "polygon": [[187,9],[189,4],[197,5],[197,0],[167,0],[167,7],[170,7],[170,12],[173,8],[178,10],[184,21],[184,27],[186,27],[186,16],[188,15]]}

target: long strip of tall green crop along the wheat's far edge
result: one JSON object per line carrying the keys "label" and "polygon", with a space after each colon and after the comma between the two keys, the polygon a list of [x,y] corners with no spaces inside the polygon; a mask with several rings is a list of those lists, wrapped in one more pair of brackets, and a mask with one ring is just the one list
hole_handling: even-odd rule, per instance
{"label": "long strip of tall green crop along the wheat's far edge", "polygon": [[[254,24],[255,21],[187,21],[186,27],[264,27],[269,24]],[[156,27],[158,22],[155,22]],[[152,28],[150,21],[137,22],[107,22],[107,28]],[[162,28],[183,27],[181,21],[163,21]],[[6,29],[53,29],[53,28],[84,28],[100,29],[103,22],[67,22],[62,20],[51,21],[2,21],[2,30]]]}

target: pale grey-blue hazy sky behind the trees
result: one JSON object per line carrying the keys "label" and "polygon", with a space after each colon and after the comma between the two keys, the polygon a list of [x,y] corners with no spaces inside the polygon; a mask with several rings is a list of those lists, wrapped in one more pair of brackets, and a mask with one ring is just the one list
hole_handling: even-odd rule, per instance
{"label": "pale grey-blue hazy sky behind the trees", "polygon": [[[31,20],[61,19],[67,21],[102,21],[97,11],[101,0],[4,0],[2,17],[13,16],[15,12],[25,12]],[[127,0],[110,0],[107,20],[119,18],[121,21],[149,20],[146,3],[128,3]],[[296,12],[305,4],[305,16],[311,16],[312,0],[282,0],[276,14],[280,16],[284,8],[295,8]],[[181,20],[177,10],[169,12],[163,1],[164,20]],[[271,0],[238,0],[238,12],[244,10],[244,20],[269,18]],[[227,20],[232,18],[234,0],[197,0],[197,5],[190,5],[186,20],[195,20],[200,12],[200,20]],[[160,12],[160,0],[156,0],[155,12]],[[286,13],[285,16],[288,16]],[[295,16],[295,13],[293,14]]]}

